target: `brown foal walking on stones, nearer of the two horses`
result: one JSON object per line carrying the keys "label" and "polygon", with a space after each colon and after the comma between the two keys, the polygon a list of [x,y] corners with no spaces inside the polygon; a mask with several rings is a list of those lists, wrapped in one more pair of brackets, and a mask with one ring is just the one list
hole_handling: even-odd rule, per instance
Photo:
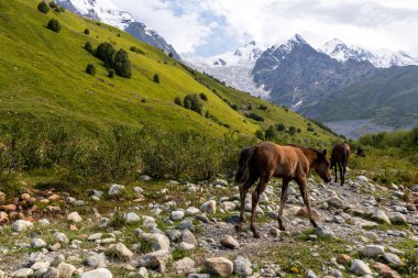
{"label": "brown foal walking on stones, nearer of the two horses", "polygon": [[286,145],[280,146],[272,142],[263,142],[255,146],[241,151],[240,168],[235,175],[235,181],[240,185],[241,214],[240,223],[235,226],[241,231],[244,222],[245,197],[252,185],[260,179],[257,187],[252,193],[251,231],[258,238],[260,233],[255,226],[255,212],[262,194],[272,177],[282,178],[280,209],[278,211],[278,226],[285,230],[283,222],[283,209],[287,200],[287,187],[289,181],[295,180],[299,185],[300,194],[308,211],[308,216],[314,226],[318,226],[310,210],[306,179],[311,168],[318,173],[323,181],[331,181],[329,174],[329,160],[327,149],[320,152],[312,148]]}

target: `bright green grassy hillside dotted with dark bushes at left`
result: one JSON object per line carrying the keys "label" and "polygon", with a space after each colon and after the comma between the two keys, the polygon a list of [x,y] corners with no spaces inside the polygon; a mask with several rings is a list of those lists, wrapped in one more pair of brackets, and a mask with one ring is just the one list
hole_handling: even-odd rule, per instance
{"label": "bright green grassy hillside dotted with dark bushes at left", "polygon": [[[141,127],[161,125],[176,131],[196,130],[207,134],[239,131],[254,134],[258,129],[283,121],[306,131],[306,121],[293,112],[268,105],[256,111],[266,121],[262,124],[246,119],[245,111],[234,111],[182,65],[150,45],[138,42],[114,27],[76,16],[69,12],[43,14],[36,10],[37,1],[2,1],[0,3],[0,114],[1,123],[21,116],[46,121],[76,122],[86,130],[102,130],[112,124]],[[18,16],[19,14],[19,16]],[[57,19],[63,30],[55,33],[46,29],[50,19]],[[90,34],[85,35],[84,30]],[[97,47],[111,42],[117,49],[136,46],[145,54],[129,52],[133,64],[131,79],[107,77],[102,63],[84,49],[86,42]],[[98,68],[96,77],[85,74],[87,64]],[[161,82],[153,82],[154,74]],[[237,104],[263,101],[246,93],[200,78],[216,88],[220,96]],[[228,124],[229,129],[190,110],[174,104],[174,98],[186,93],[204,92],[208,96],[206,110]],[[261,126],[260,126],[261,125]],[[320,127],[316,127],[320,131]],[[324,132],[297,134],[295,138],[328,142],[332,136]]]}

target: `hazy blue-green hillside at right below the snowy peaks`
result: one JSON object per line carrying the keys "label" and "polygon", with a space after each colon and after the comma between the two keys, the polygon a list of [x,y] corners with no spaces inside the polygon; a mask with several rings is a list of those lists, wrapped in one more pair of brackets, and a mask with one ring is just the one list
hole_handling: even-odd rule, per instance
{"label": "hazy blue-green hillside at right below the snowy peaks", "polygon": [[418,67],[382,69],[304,112],[324,122],[373,119],[394,127],[418,125]]}

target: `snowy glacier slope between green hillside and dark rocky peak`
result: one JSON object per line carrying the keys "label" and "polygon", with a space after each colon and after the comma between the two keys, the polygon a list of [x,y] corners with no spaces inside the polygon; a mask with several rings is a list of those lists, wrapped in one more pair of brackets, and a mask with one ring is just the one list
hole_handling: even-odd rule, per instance
{"label": "snowy glacier slope between green hillside and dark rocky peak", "polygon": [[267,98],[268,92],[257,88],[251,76],[251,71],[262,54],[263,49],[254,41],[251,41],[233,52],[212,57],[186,56],[184,59],[191,67],[224,81],[228,86]]}

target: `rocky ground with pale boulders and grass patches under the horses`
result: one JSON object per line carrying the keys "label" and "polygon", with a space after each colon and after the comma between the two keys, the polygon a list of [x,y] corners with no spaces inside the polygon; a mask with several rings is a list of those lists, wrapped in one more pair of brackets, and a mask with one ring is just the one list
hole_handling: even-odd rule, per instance
{"label": "rocky ground with pale boulders and grass patches under the horses", "polygon": [[[417,277],[418,185],[309,179],[319,227],[292,185],[285,232],[280,181],[257,209],[262,237],[235,233],[238,187],[223,179],[0,193],[0,277]],[[32,188],[28,186],[28,188]],[[250,210],[251,194],[245,210]],[[249,219],[249,216],[248,216]]]}

